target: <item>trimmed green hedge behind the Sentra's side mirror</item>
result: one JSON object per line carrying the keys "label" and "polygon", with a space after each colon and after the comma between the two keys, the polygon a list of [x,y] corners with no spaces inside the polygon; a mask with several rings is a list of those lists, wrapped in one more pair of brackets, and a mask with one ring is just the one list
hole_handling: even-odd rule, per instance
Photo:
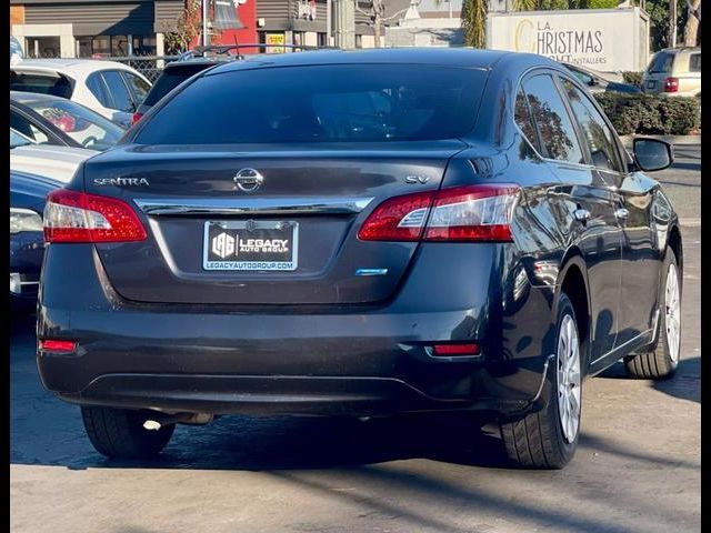
{"label": "trimmed green hedge behind the Sentra's side mirror", "polygon": [[700,125],[695,98],[602,92],[594,95],[620,135],[685,135]]}

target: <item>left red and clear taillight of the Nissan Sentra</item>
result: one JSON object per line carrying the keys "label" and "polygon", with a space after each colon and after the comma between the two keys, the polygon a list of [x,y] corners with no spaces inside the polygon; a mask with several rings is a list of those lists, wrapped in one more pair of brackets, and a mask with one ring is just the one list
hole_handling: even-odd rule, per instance
{"label": "left red and clear taillight of the Nissan Sentra", "polygon": [[127,242],[147,237],[128,203],[66,189],[47,195],[43,222],[47,242]]}

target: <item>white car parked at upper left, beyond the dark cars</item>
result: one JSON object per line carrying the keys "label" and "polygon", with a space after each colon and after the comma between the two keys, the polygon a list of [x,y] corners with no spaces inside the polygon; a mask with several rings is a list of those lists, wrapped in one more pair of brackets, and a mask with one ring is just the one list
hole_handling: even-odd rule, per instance
{"label": "white car parked at upper left, beyond the dark cars", "polygon": [[131,119],[151,83],[136,69],[96,59],[23,59],[10,64],[10,90],[67,98],[121,124]]}

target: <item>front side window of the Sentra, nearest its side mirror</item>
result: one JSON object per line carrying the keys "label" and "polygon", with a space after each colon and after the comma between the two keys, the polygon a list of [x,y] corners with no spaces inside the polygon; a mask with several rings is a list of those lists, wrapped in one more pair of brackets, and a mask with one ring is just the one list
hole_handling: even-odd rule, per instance
{"label": "front side window of the Sentra, nearest its side mirror", "polygon": [[570,107],[582,128],[583,137],[590,149],[592,164],[600,169],[622,172],[620,154],[613,133],[590,99],[570,81],[563,80],[563,87],[570,99]]}

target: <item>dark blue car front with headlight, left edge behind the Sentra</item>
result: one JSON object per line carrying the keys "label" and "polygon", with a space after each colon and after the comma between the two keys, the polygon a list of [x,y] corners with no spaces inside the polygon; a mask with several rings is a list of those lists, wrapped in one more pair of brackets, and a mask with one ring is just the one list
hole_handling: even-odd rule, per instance
{"label": "dark blue car front with headlight, left edge behind the Sentra", "polygon": [[10,305],[33,310],[44,254],[42,211],[44,198],[62,183],[10,171]]}

